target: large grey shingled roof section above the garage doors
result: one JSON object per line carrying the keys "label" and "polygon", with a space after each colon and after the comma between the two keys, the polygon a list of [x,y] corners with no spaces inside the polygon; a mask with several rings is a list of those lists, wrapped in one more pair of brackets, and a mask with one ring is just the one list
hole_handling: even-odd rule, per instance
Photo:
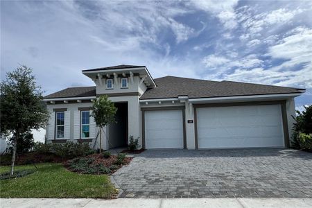
{"label": "large grey shingled roof section above the garage doors", "polygon": [[148,89],[144,92],[140,99],[177,98],[177,96],[189,96],[189,98],[211,98],[223,96],[300,93],[300,89],[291,87],[278,87],[272,85],[238,83],[231,81],[216,82],[174,76],[165,76],[154,80],[157,87]]}

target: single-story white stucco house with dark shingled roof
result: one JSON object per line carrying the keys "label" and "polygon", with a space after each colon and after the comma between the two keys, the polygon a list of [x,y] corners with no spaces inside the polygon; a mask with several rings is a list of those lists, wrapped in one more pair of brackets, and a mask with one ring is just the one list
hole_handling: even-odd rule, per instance
{"label": "single-story white stucco house with dark shingled roof", "polygon": [[[126,146],[130,135],[142,148],[264,148],[290,146],[294,98],[305,90],[165,76],[146,66],[83,70],[94,87],[70,87],[45,96],[51,112],[47,142],[89,142],[103,149]],[[117,123],[98,136],[92,101],[107,95]]]}

